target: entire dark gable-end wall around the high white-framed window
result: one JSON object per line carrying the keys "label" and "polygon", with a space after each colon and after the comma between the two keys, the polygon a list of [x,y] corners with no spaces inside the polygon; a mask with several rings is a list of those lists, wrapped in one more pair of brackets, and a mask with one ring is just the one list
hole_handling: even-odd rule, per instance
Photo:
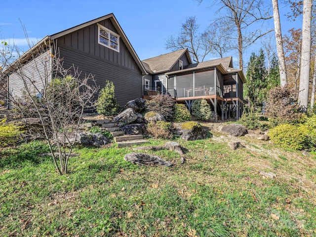
{"label": "entire dark gable-end wall around the high white-framed window", "polygon": [[[98,24],[118,34],[112,21]],[[130,51],[119,38],[119,52],[98,43],[98,25],[93,24],[57,39],[60,58],[65,68],[74,65],[83,74],[92,74],[96,84],[103,88],[106,80],[113,81],[118,104],[143,95],[142,72]]]}

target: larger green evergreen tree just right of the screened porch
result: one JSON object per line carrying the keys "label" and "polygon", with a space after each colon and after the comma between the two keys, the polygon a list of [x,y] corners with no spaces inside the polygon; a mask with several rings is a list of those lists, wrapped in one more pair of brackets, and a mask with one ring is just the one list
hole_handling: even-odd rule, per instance
{"label": "larger green evergreen tree just right of the screened porch", "polygon": [[268,85],[265,54],[262,48],[259,55],[251,53],[246,79],[245,93],[255,110],[258,106],[262,107]]}

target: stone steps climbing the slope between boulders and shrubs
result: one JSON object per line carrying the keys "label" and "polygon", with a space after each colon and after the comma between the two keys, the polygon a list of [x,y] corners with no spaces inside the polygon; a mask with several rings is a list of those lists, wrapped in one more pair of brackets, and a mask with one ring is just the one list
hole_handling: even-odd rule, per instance
{"label": "stone steps climbing the slope between boulders and shrubs", "polygon": [[97,120],[97,123],[101,125],[102,129],[112,133],[114,141],[118,144],[118,148],[142,145],[148,142],[144,139],[143,135],[125,135],[125,132],[119,131],[119,127],[109,119]]}

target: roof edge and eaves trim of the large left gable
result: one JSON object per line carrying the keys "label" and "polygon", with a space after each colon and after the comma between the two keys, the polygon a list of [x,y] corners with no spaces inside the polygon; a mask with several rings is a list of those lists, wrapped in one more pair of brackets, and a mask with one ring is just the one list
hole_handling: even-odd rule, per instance
{"label": "roof edge and eaves trim of the large left gable", "polygon": [[90,26],[90,25],[93,25],[93,24],[96,24],[97,22],[100,22],[100,21],[103,21],[103,20],[106,20],[106,19],[110,19],[111,22],[113,23],[114,27],[116,28],[116,30],[118,31],[118,34],[120,36],[120,39],[125,43],[126,47],[128,48],[129,52],[131,53],[133,59],[135,60],[137,66],[139,67],[139,69],[141,70],[141,72],[143,73],[143,75],[146,75],[147,74],[147,71],[146,69],[144,68],[142,62],[140,61],[138,55],[136,54],[134,48],[132,47],[131,43],[129,42],[129,40],[127,39],[125,33],[123,32],[122,28],[120,27],[120,25],[118,24],[118,20],[115,18],[114,14],[113,13],[110,13],[108,15],[105,15],[105,16],[102,16],[102,17],[99,17],[99,18],[96,18],[94,20],[91,20],[91,21],[88,21],[88,22],[85,22],[85,23],[82,23],[78,26],[75,26],[75,27],[72,27],[72,28],[69,28],[67,30],[64,30],[64,31],[61,31],[59,33],[56,33],[56,34],[53,34],[51,36],[46,36],[44,37],[42,40],[40,40],[37,44],[35,44],[33,47],[31,47],[27,52],[25,52],[20,58],[19,58],[19,61],[23,62],[23,60],[27,60],[30,55],[32,55],[32,52],[36,51],[38,47],[40,46],[47,46],[47,45],[50,45],[50,42],[52,40],[56,40],[57,38],[59,37],[62,37],[62,36],[65,36],[67,34],[70,34],[72,32],[75,32],[75,31],[78,31],[84,27],[87,27],[87,26]]}

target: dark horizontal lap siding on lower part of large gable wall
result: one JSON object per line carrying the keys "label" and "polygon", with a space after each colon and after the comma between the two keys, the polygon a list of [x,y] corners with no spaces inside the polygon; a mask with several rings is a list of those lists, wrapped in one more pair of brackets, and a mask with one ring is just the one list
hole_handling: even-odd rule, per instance
{"label": "dark horizontal lap siding on lower part of large gable wall", "polygon": [[[106,80],[112,81],[115,96],[121,107],[130,100],[142,97],[142,73],[138,67],[138,70],[131,70],[66,46],[59,46],[59,53],[63,58],[64,68],[71,68],[74,65],[81,72],[81,76],[93,75],[96,85],[100,88],[105,86]],[[97,97],[98,95],[95,99]]]}

